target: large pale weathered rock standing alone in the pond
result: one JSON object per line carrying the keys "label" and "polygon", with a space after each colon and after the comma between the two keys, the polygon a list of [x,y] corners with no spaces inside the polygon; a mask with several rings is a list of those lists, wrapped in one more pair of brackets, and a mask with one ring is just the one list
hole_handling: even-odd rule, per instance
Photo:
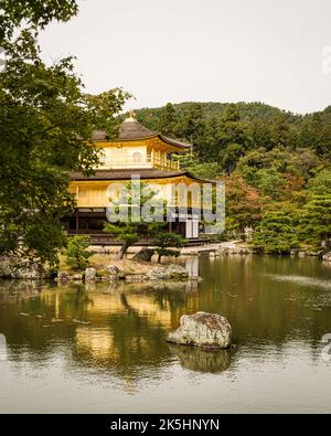
{"label": "large pale weathered rock standing alone in the pond", "polygon": [[183,315],[180,327],[169,333],[167,341],[182,345],[226,349],[231,345],[232,329],[218,313]]}

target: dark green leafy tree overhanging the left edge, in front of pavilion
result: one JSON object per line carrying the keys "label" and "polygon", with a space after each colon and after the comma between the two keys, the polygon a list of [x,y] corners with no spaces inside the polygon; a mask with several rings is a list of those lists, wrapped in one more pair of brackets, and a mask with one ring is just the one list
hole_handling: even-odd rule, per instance
{"label": "dark green leafy tree overhanging the left edge, in front of pavilion", "polygon": [[56,262],[64,244],[60,220],[75,206],[70,172],[92,171],[98,161],[92,132],[108,127],[128,98],[121,89],[82,93],[73,59],[52,65],[41,59],[38,32],[77,12],[71,0],[1,1],[0,46],[0,253],[18,249],[41,263]]}

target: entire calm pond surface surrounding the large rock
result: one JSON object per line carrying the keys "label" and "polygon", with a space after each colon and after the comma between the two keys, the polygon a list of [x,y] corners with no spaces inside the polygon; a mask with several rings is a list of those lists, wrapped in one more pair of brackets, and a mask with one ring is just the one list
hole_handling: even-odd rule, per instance
{"label": "entire calm pond surface surrounding the large rock", "polygon": [[[197,264],[199,262],[199,264]],[[0,412],[331,412],[331,265],[189,258],[200,284],[0,284]],[[166,342],[225,316],[229,351]]]}

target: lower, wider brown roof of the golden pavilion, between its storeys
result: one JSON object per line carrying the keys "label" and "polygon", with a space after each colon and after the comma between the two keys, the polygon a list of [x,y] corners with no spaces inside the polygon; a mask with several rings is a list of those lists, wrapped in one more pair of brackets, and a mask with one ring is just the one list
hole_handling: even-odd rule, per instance
{"label": "lower, wider brown roof of the golden pavilion, between its storeys", "polygon": [[215,182],[214,180],[199,179],[192,176],[189,171],[164,171],[154,168],[146,169],[116,169],[116,170],[96,170],[90,176],[84,176],[82,172],[72,172],[71,178],[73,181],[84,180],[130,180],[131,176],[139,176],[141,180],[146,179],[169,179],[175,177],[186,176],[190,179],[201,182]]}

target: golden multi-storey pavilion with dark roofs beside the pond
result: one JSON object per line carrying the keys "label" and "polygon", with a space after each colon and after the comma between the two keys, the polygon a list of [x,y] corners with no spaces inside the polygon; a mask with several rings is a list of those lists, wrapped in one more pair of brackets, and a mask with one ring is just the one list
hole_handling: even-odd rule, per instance
{"label": "golden multi-storey pavilion with dark roofs beside the pond", "polygon": [[[71,174],[70,191],[76,195],[77,209],[64,220],[68,234],[88,234],[94,244],[104,244],[107,235],[103,233],[103,227],[107,220],[106,208],[109,205],[107,189],[114,182],[129,182],[135,174],[142,182],[161,187],[161,196],[169,206],[174,208],[174,222],[166,224],[170,232],[182,234],[189,240],[200,237],[203,225],[194,211],[201,204],[194,204],[195,196],[192,195],[191,188],[201,189],[205,180],[181,170],[179,159],[174,158],[191,152],[190,143],[149,130],[132,114],[119,126],[116,140],[108,140],[105,131],[95,131],[93,140],[100,148],[98,168],[89,177],[81,172]],[[179,206],[183,205],[183,200],[175,191],[178,184],[191,187],[184,201],[188,212],[181,220]]]}

